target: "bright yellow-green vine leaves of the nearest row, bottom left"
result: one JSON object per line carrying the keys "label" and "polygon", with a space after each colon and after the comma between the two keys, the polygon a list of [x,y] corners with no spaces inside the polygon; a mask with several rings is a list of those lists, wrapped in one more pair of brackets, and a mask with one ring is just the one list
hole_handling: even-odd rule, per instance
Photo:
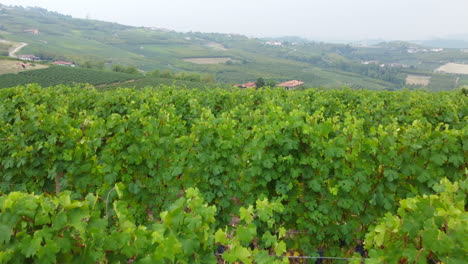
{"label": "bright yellow-green vine leaves of the nearest row, bottom left", "polygon": [[[129,204],[122,184],[115,188],[119,198],[112,212],[104,204],[108,198],[93,194],[83,200],[71,199],[69,192],[0,197],[0,263],[215,263],[215,239],[229,248],[223,257],[231,262],[288,263],[274,260],[268,251],[241,246],[239,241],[256,235],[246,238],[242,227],[234,231],[235,237],[220,239],[224,234],[214,229],[216,207],[207,206],[197,189],[187,189],[159,219],[137,225],[128,208],[142,204]],[[280,203],[257,202],[263,221],[270,222],[279,209]],[[244,220],[255,230],[251,219]],[[280,233],[279,238],[284,237],[284,231]],[[267,242],[277,256],[286,252],[275,236],[269,234]]]}

